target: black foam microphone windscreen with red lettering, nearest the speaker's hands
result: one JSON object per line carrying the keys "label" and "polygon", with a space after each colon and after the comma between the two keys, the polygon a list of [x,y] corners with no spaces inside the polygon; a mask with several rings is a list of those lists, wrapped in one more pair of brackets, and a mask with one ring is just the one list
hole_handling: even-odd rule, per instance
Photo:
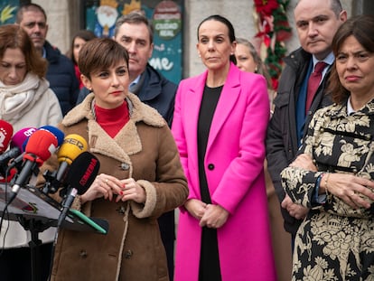
{"label": "black foam microphone windscreen with red lettering, nearest the speaker's hands", "polygon": [[95,155],[85,151],[78,155],[71,163],[69,172],[66,175],[66,183],[75,188],[81,195],[89,189],[98,175],[100,162]]}

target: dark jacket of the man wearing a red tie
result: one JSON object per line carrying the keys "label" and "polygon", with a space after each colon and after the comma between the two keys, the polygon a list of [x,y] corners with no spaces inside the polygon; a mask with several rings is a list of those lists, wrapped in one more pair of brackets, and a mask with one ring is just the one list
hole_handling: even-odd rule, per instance
{"label": "dark jacket of the man wearing a red tie", "polygon": [[[312,55],[301,48],[285,58],[285,69],[282,71],[276,98],[274,99],[274,115],[267,127],[267,169],[280,202],[285,199],[280,173],[294,160],[299,148],[296,129],[296,102],[311,60]],[[325,75],[317,89],[312,106],[305,118],[304,134],[314,112],[318,108],[323,108],[332,103],[331,98],[324,94],[328,76],[329,73]],[[296,220],[283,208],[281,208],[281,211],[285,219],[285,230],[295,234],[302,220]]]}

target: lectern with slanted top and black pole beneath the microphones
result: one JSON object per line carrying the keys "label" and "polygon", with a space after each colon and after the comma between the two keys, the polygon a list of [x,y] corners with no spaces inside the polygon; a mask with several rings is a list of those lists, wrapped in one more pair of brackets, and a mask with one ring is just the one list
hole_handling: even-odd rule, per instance
{"label": "lectern with slanted top and black pole beneath the microphones", "polygon": [[[38,188],[26,184],[19,190],[16,200],[8,205],[8,201],[5,199],[9,198],[13,193],[6,189],[6,183],[0,183],[0,194],[5,193],[5,198],[0,196],[0,216],[4,216],[7,209],[8,220],[18,221],[23,229],[30,230],[32,236],[29,241],[32,280],[42,281],[41,268],[44,266],[45,261],[41,260],[42,240],[39,239],[39,233],[50,227],[57,226],[61,215],[61,203],[54,201],[48,194],[43,193]],[[108,233],[109,225],[107,220],[89,218],[80,211],[70,210],[70,215],[64,219],[66,220],[63,220],[61,227],[65,229],[96,232],[104,235]]]}

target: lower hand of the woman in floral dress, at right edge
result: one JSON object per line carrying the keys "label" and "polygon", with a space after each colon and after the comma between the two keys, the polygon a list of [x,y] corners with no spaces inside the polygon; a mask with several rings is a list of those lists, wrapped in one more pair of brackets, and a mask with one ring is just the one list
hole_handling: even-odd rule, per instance
{"label": "lower hand of the woman in floral dress, at right edge", "polygon": [[353,209],[369,209],[371,202],[368,198],[374,201],[374,182],[352,174],[326,173],[323,175],[322,186],[325,191],[339,197]]}

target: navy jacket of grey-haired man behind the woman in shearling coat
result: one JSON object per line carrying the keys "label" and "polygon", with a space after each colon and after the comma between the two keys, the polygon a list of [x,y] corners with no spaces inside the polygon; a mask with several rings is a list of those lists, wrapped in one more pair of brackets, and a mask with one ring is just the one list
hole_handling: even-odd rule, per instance
{"label": "navy jacket of grey-haired man behind the woman in shearling coat", "polygon": [[[132,92],[146,105],[157,109],[171,126],[177,87],[172,81],[165,79],[162,74],[154,70],[150,64],[147,64],[136,85],[136,89],[132,90]],[[77,104],[86,98],[88,94],[89,89],[80,89]]]}

